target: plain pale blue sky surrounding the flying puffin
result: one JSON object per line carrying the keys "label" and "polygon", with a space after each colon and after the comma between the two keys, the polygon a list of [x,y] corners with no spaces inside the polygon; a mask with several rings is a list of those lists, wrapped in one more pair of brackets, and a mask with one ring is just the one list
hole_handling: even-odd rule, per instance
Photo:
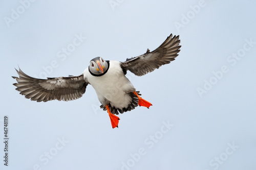
{"label": "plain pale blue sky surrounding the flying puffin", "polygon": [[[256,169],[256,1],[0,1],[0,169]],[[131,80],[150,109],[109,115],[92,86],[37,103],[12,85],[82,74],[180,35],[175,61]],[[80,41],[77,41],[80,37]],[[74,45],[74,42],[76,46]],[[68,52],[64,52],[68,49]]]}

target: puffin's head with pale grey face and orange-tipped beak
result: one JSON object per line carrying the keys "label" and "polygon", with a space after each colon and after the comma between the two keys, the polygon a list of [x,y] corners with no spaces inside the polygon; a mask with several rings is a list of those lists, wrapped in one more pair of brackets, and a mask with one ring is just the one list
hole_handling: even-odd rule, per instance
{"label": "puffin's head with pale grey face and orange-tipped beak", "polygon": [[96,57],[90,61],[89,71],[93,76],[102,76],[109,69],[109,61]]}

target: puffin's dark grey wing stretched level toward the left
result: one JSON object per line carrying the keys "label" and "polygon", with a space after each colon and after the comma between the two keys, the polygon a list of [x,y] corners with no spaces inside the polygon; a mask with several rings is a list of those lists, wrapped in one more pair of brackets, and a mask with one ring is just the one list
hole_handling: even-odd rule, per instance
{"label": "puffin's dark grey wing stretched level toward the left", "polygon": [[86,86],[89,84],[84,80],[83,75],[73,77],[59,77],[36,79],[26,75],[22,70],[17,70],[16,90],[25,98],[36,102],[47,102],[51,100],[70,101],[81,98],[86,92]]}

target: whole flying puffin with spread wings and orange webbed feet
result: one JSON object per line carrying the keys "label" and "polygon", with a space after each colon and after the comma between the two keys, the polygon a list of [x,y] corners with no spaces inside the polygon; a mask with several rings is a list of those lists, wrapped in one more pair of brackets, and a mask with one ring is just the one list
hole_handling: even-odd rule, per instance
{"label": "whole flying puffin with spread wings and orange webbed feet", "polygon": [[109,113],[112,128],[118,128],[119,117],[116,115],[119,113],[131,111],[138,105],[147,108],[152,106],[140,97],[139,91],[136,91],[125,77],[126,72],[129,70],[136,76],[143,76],[161,65],[170,63],[180,52],[179,43],[179,35],[170,34],[153,52],[147,48],[145,54],[126,59],[124,62],[96,57],[90,61],[89,67],[80,76],[36,79],[26,75],[20,68],[15,68],[19,77],[12,77],[17,81],[13,85],[20,94],[25,95],[25,98],[47,102],[79,99],[90,84],[97,93],[100,108]]}

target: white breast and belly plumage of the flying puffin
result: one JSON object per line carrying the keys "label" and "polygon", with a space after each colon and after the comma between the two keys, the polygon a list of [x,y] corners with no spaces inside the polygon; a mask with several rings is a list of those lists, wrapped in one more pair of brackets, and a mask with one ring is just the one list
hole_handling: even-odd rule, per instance
{"label": "white breast and belly plumage of the flying puffin", "polygon": [[132,102],[131,96],[127,93],[134,92],[135,88],[124,76],[118,61],[110,61],[110,68],[103,76],[92,76],[88,68],[84,70],[84,76],[95,89],[103,106],[110,102],[112,106],[122,109]]}

